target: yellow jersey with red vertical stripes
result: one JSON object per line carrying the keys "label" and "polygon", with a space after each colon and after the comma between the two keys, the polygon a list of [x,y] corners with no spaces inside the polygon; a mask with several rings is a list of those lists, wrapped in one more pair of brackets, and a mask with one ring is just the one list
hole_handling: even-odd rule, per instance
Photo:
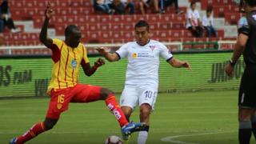
{"label": "yellow jersey with red vertical stripes", "polygon": [[53,44],[49,48],[53,52],[53,70],[47,93],[49,94],[52,89],[75,86],[78,83],[79,67],[82,63],[89,62],[86,47],[79,43],[78,47],[71,48],[62,40],[53,39]]}

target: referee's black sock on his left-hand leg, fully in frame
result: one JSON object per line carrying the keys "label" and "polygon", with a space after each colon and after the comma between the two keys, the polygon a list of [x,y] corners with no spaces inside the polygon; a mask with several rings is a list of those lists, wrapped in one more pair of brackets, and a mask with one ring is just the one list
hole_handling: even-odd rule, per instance
{"label": "referee's black sock on his left-hand leg, fully in frame", "polygon": [[251,137],[251,122],[250,121],[242,121],[239,122],[239,143],[241,144],[249,144]]}

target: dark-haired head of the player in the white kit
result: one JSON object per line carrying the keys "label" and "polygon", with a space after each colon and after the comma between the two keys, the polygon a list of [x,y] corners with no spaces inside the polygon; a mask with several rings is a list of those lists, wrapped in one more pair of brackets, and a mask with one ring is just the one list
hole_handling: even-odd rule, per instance
{"label": "dark-haired head of the player in the white kit", "polygon": [[144,46],[150,40],[150,25],[146,21],[139,21],[135,25],[136,42]]}

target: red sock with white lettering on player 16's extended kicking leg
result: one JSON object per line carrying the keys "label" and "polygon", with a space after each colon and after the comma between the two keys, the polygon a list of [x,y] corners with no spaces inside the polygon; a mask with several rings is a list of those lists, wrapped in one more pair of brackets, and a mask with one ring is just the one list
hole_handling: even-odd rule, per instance
{"label": "red sock with white lettering on player 16's extended kicking leg", "polygon": [[126,120],[126,116],[123,114],[118,102],[115,100],[114,94],[108,95],[105,102],[107,108],[111,111],[112,114],[114,114],[115,118],[117,118],[119,125],[126,125],[128,121]]}

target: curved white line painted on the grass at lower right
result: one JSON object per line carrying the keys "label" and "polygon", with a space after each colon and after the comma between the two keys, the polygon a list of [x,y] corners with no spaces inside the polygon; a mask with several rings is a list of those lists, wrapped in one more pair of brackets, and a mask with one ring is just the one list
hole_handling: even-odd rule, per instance
{"label": "curved white line painted on the grass at lower right", "polygon": [[232,133],[232,132],[234,132],[234,131],[218,131],[218,132],[210,132],[210,133],[202,133],[202,134],[176,135],[176,136],[170,136],[170,137],[166,137],[166,138],[161,138],[161,141],[163,141],[163,142],[180,143],[180,144],[200,144],[199,142],[183,142],[183,141],[178,141],[178,140],[174,140],[174,138],[193,137],[193,136],[209,135],[209,134]]}

